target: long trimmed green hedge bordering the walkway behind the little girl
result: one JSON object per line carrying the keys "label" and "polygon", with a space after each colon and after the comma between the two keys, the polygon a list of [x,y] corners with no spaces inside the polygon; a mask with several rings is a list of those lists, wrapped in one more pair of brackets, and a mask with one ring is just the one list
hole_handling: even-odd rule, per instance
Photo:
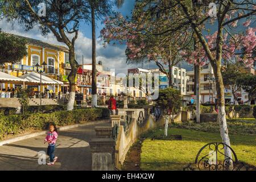
{"label": "long trimmed green hedge bordering the walkway behind the little girl", "polygon": [[0,116],[0,139],[6,135],[22,133],[27,129],[45,130],[49,122],[54,122],[59,127],[95,121],[96,118],[101,118],[104,112],[106,112],[106,108]]}

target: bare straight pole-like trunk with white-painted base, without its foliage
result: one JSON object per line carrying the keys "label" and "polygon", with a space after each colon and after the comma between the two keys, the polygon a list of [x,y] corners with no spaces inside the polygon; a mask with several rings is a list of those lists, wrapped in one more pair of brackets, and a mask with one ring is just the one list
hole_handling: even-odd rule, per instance
{"label": "bare straight pole-like trunk with white-painted base, without its foliage", "polygon": [[95,12],[92,6],[92,107],[97,107]]}

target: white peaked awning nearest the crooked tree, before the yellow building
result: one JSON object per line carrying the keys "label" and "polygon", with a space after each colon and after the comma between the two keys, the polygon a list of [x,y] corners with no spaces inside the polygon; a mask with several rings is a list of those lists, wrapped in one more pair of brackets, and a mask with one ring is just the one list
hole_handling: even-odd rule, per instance
{"label": "white peaked awning nearest the crooked tree, before the yellow building", "polygon": [[[40,84],[40,74],[35,72],[29,72],[25,75],[19,76],[20,78],[23,78],[26,84]],[[49,78],[47,76],[42,75],[42,84],[46,85],[52,85],[52,84],[63,84],[62,81],[54,80],[52,78]]]}

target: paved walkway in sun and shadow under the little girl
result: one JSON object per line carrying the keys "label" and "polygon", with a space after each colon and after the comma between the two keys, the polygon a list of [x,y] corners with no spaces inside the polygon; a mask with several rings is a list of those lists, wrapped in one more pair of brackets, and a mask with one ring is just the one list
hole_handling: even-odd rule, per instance
{"label": "paved walkway in sun and shadow under the little girl", "polygon": [[38,164],[38,152],[47,150],[46,135],[0,146],[0,170],[91,170],[89,140],[96,137],[94,127],[108,126],[107,122],[60,131],[55,150],[59,159],[53,166]]}

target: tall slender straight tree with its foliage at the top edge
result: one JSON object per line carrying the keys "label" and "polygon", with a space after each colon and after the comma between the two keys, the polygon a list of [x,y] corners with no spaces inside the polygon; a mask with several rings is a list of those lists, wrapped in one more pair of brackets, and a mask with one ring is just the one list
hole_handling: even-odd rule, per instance
{"label": "tall slender straight tree with its foliage at the top edge", "polygon": [[107,0],[92,0],[90,5],[90,22],[92,23],[92,107],[97,106],[97,70],[96,70],[96,19],[112,13],[112,3]]}

